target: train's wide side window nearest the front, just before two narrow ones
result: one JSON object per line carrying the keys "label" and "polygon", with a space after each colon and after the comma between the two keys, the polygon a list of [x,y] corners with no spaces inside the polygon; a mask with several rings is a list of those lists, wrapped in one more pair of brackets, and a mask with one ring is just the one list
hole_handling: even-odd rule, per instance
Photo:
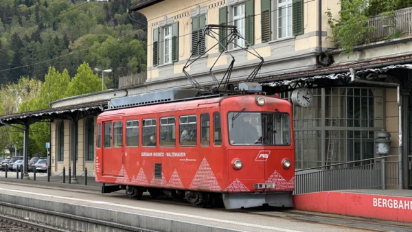
{"label": "train's wide side window nearest the front, just before two narrow ones", "polygon": [[181,146],[196,146],[197,121],[196,115],[185,115],[179,118],[179,144]]}

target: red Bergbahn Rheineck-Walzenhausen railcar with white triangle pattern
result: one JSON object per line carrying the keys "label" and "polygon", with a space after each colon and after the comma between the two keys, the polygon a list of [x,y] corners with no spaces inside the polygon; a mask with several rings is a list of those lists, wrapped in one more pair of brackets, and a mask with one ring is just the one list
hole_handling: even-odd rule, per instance
{"label": "red Bergbahn Rheineck-Walzenhausen railcar with white triangle pattern", "polygon": [[194,96],[173,90],[111,100],[114,109],[97,124],[102,193],[149,192],[203,207],[222,200],[227,209],[293,207],[290,102],[258,94]]}

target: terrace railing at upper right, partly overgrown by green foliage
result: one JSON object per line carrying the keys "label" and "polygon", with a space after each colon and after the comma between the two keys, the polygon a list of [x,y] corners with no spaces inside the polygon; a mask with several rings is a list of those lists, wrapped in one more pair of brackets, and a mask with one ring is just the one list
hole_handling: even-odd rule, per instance
{"label": "terrace railing at upper right, partly overgrown by green foliage", "polygon": [[[378,15],[369,19],[367,26],[374,26],[375,30],[365,35],[369,42],[376,42],[389,38],[394,34],[412,34],[412,8],[404,8],[393,12],[393,16]],[[363,43],[364,41],[362,41]]]}

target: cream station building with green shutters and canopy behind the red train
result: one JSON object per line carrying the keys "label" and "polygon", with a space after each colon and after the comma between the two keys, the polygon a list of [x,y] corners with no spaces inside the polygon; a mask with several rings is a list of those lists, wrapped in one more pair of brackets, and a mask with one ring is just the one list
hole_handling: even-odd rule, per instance
{"label": "cream station building with green shutters and canopy behind the red train", "polygon": [[[371,42],[354,47],[348,56],[328,38],[333,34],[325,12],[330,10],[337,18],[338,3],[138,1],[128,11],[144,14],[148,22],[146,82],[52,102],[51,111],[81,108],[86,103],[100,107],[78,120],[52,121],[52,171],[58,174],[62,167],[67,168],[76,154],[78,173],[87,167],[93,174],[95,119],[109,99],[160,89],[213,86],[214,78],[222,80],[233,60],[230,81],[242,82],[264,60],[254,81],[294,103],[297,170],[328,169],[336,163],[378,164],[378,158],[385,155],[396,168],[387,176],[387,187],[412,189],[412,8],[397,10],[396,24],[389,29],[381,19],[370,19],[376,25],[367,35]],[[226,44],[229,38],[225,39],[230,32],[224,26],[228,25],[236,26],[240,34],[231,45]],[[387,39],[393,30],[402,34]],[[252,56],[248,52],[252,50],[259,56]],[[302,88],[312,93],[308,105],[295,99]],[[390,135],[386,138],[391,141],[388,154],[376,153],[376,135],[382,131]],[[352,178],[356,177],[353,174]]]}

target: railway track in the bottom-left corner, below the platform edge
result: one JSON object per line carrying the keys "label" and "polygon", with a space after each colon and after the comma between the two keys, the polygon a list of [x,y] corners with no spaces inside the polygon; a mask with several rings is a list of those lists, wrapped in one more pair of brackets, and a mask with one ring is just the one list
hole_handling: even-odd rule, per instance
{"label": "railway track in the bottom-left corner, below the platform edge", "polygon": [[30,222],[30,219],[21,220],[19,218],[12,218],[0,215],[0,232],[68,232],[64,229],[57,229],[48,227],[44,224]]}

